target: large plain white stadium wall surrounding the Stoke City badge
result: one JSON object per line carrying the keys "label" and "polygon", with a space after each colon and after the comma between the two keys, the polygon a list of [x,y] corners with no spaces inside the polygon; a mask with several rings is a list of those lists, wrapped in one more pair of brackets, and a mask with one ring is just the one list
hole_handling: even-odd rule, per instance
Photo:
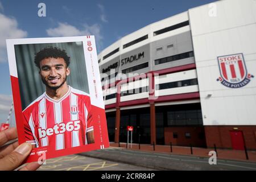
{"label": "large plain white stadium wall surrounding the Stoke City badge", "polygon": [[256,1],[214,3],[215,17],[209,5],[189,10],[204,125],[256,125],[255,78],[241,88],[217,81],[217,57],[237,53],[243,53],[247,73],[256,76]]}

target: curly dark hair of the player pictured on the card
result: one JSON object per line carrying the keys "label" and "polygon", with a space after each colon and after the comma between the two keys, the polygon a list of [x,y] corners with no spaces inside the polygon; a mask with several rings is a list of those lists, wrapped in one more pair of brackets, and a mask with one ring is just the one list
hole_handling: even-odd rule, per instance
{"label": "curly dark hair of the player pictured on the card", "polygon": [[41,51],[39,51],[38,53],[35,53],[34,63],[36,64],[36,67],[40,69],[40,61],[48,57],[54,57],[56,59],[58,57],[63,58],[65,60],[65,63],[67,64],[67,67],[70,63],[70,57],[67,55],[64,49],[61,50],[60,48],[57,48],[57,47],[46,47]]}

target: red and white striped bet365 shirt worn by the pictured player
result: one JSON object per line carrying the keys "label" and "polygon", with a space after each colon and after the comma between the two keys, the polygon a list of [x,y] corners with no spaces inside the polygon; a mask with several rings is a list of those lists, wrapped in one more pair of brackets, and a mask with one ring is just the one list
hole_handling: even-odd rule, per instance
{"label": "red and white striped bet365 shirt worn by the pictured player", "polygon": [[24,111],[26,142],[53,150],[87,144],[86,133],[93,131],[90,97],[69,86],[58,101],[46,93],[38,97]]}

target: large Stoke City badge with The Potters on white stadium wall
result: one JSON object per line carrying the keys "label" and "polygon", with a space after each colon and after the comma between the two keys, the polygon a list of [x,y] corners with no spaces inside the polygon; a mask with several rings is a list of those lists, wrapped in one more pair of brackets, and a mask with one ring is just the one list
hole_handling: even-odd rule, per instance
{"label": "large Stoke City badge with The Potters on white stadium wall", "polygon": [[245,59],[242,53],[219,56],[218,67],[221,76],[217,78],[222,85],[229,88],[241,88],[247,85],[254,76],[247,73]]}

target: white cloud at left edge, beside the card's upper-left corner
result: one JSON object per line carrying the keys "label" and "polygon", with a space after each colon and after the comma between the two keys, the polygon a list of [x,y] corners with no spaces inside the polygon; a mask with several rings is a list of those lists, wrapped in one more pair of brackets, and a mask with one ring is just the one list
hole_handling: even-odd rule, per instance
{"label": "white cloud at left edge, beside the card's upper-left corner", "polygon": [[[0,5],[1,6],[1,5]],[[6,39],[25,38],[27,32],[18,28],[15,18],[0,13],[0,63],[7,61]]]}

